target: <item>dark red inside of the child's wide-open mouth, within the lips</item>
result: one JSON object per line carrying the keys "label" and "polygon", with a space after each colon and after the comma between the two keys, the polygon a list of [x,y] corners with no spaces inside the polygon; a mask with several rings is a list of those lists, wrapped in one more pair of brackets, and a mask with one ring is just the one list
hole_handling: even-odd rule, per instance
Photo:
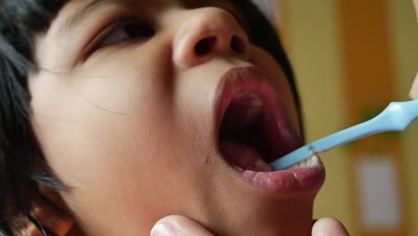
{"label": "dark red inside of the child's wide-open mouth, within the lips", "polygon": [[275,89],[256,70],[226,75],[221,95],[219,145],[239,170],[271,172],[268,163],[300,147],[297,132]]}

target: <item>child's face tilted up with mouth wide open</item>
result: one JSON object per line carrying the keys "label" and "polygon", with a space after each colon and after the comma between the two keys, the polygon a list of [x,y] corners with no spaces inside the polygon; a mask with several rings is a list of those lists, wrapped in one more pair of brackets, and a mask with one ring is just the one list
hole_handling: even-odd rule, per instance
{"label": "child's face tilted up with mouth wide open", "polygon": [[176,214],[225,235],[307,232],[323,168],[256,172],[259,156],[301,145],[300,127],[288,79],[248,42],[238,10],[226,0],[99,2],[85,14],[90,1],[65,5],[37,41],[45,70],[29,78],[33,126],[73,187],[60,195],[80,227],[146,235]]}

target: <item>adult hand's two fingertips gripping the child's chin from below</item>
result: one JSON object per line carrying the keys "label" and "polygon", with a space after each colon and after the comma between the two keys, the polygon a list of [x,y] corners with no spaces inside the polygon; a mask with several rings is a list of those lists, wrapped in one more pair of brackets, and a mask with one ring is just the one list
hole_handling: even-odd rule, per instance
{"label": "adult hand's two fingertips gripping the child's chin from below", "polygon": [[[349,233],[338,220],[322,218],[314,223],[312,235],[349,236]],[[213,236],[213,233],[184,216],[170,215],[155,223],[151,236]]]}

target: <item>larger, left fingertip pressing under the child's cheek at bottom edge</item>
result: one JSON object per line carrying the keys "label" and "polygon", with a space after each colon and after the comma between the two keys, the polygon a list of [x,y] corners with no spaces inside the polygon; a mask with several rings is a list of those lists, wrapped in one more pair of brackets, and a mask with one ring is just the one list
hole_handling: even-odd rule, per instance
{"label": "larger, left fingertip pressing under the child's cheek at bottom edge", "polygon": [[200,223],[181,215],[170,215],[155,223],[151,236],[213,236]]}

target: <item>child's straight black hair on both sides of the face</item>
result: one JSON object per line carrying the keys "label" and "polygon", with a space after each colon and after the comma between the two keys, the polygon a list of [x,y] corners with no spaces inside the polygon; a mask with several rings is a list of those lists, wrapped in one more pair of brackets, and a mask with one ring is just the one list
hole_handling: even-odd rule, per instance
{"label": "child's straight black hair on both sides of the face", "polygon": [[[38,204],[53,206],[38,186],[67,188],[45,163],[31,128],[27,82],[29,74],[38,70],[34,39],[49,28],[66,2],[0,0],[0,235],[16,234],[28,220],[48,233],[31,215]],[[250,1],[231,2],[245,13],[255,36],[253,43],[269,51],[283,67],[299,106],[293,73],[272,25]]]}

